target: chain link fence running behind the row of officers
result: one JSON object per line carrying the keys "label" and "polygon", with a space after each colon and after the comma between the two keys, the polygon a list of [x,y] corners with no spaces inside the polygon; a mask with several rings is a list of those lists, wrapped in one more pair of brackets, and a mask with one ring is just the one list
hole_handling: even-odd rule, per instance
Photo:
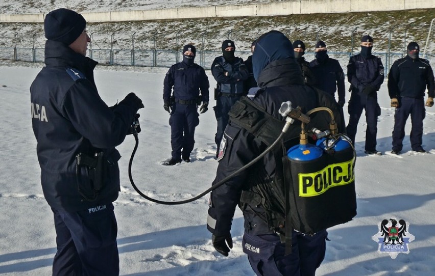
{"label": "chain link fence running behind the row of officers", "polygon": [[[195,41],[183,41],[179,39],[178,34],[175,37],[159,37],[157,34],[148,36],[135,37],[131,36],[116,37],[113,33],[110,38],[107,34],[90,34],[91,42],[88,45],[87,56],[99,62],[102,65],[121,65],[121,66],[144,66],[144,67],[171,67],[173,64],[182,60],[182,47],[184,44],[192,43],[197,48],[196,63],[209,70],[214,58],[222,55],[221,50],[210,50],[209,48],[219,48],[219,45],[212,45],[211,42],[203,35],[202,38]],[[228,34],[228,38],[232,38]],[[319,39],[316,36],[316,40]],[[347,52],[332,52],[328,51],[330,58],[336,59],[340,62],[344,72],[347,72],[346,66],[349,58],[358,53],[354,51],[354,45],[359,47],[359,42],[354,42],[354,35],[352,33],[352,46],[351,51]],[[403,52],[391,52],[388,47],[390,45],[390,38],[380,38],[378,49],[385,48],[387,51],[376,52],[374,48],[374,55],[382,59],[385,67],[385,75],[388,74],[389,69],[393,62],[405,55]],[[44,48],[45,40],[43,36],[36,34],[30,40],[28,37],[19,37],[15,34],[13,40],[0,38],[0,59],[11,61],[24,61],[24,62],[43,62],[44,61]],[[215,43],[214,43],[215,44]],[[404,43],[405,46],[406,43]],[[163,45],[163,46],[162,46]],[[251,52],[236,47],[236,56],[246,60]],[[304,55],[307,61],[315,58],[314,52],[307,51]],[[435,62],[435,56],[426,54],[429,61]]]}

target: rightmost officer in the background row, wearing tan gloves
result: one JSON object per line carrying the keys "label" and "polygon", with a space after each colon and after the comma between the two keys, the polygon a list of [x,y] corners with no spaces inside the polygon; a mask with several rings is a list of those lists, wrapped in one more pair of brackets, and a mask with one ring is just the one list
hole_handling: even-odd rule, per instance
{"label": "rightmost officer in the background row, wearing tan gloves", "polygon": [[388,75],[388,94],[391,106],[396,107],[394,113],[393,149],[391,153],[399,154],[402,150],[405,125],[411,115],[412,129],[409,135],[411,147],[416,152],[423,149],[424,92],[428,90],[426,106],[433,106],[435,84],[432,67],[429,61],[419,58],[420,47],[417,42],[407,46],[407,56],[394,62]]}

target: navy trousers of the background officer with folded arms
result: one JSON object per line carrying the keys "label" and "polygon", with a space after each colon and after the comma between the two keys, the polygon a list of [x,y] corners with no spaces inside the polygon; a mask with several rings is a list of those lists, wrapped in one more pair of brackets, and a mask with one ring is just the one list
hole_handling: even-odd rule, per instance
{"label": "navy trousers of the background officer with folded arms", "polygon": [[230,112],[231,106],[233,106],[233,104],[238,101],[242,95],[228,93],[222,94],[222,96],[216,99],[216,106],[213,107],[214,116],[216,117],[216,121],[218,121],[218,130],[214,135],[214,142],[216,143],[216,146],[218,146],[218,150],[222,141],[222,137],[224,136],[224,131],[227,127],[228,120],[230,119],[228,112]]}

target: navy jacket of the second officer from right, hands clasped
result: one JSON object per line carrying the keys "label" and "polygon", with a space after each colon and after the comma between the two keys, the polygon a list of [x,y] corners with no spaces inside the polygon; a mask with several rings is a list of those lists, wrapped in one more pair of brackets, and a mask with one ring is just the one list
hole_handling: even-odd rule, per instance
{"label": "navy jacket of the second officer from right, hands clasped", "polygon": [[367,59],[361,54],[351,57],[347,65],[347,79],[352,91],[360,92],[372,85],[379,90],[384,78],[384,68],[380,58],[371,55]]}

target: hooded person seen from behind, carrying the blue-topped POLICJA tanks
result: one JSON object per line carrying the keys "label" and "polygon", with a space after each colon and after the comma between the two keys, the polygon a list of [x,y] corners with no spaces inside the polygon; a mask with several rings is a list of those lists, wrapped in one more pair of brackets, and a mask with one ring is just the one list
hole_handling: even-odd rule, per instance
{"label": "hooded person seen from behind, carrying the blue-topped POLICJA tanks", "polygon": [[[258,111],[261,112],[257,114],[259,116],[247,116],[244,121],[247,114],[244,108],[251,102],[247,98],[241,98],[231,108],[213,184],[243,167],[269,146],[265,141],[269,141],[271,131],[255,130],[272,124],[251,124],[255,124],[256,118],[270,117],[280,125],[285,120],[279,113],[282,102],[291,101],[293,107],[301,106],[303,113],[318,106],[327,106],[337,118],[339,131],[345,130],[340,107],[335,100],[324,92],[304,85],[292,43],[282,33],[271,31],[257,40],[253,65],[254,76],[261,90],[257,92],[252,105],[259,106]],[[322,128],[329,125],[326,113],[318,113],[312,121],[316,121]],[[289,139],[283,141],[283,145],[287,147],[298,144],[300,129],[300,122],[290,126],[287,131]],[[280,131],[274,129],[276,130]],[[257,275],[314,275],[325,256],[326,229],[305,235],[283,223],[287,209],[284,208],[282,156],[283,150],[278,147],[251,168],[213,190],[207,229],[212,233],[212,244],[216,251],[228,256],[233,245],[230,233],[232,218],[238,205],[245,218],[243,251],[248,255]],[[285,233],[289,236],[285,236]],[[291,254],[285,255],[287,248]]]}

